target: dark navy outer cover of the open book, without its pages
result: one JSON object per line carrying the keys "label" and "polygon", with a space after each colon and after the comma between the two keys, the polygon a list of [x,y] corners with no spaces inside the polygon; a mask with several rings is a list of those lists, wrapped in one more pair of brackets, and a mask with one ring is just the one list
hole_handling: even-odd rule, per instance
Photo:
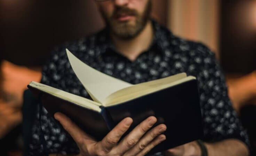
{"label": "dark navy outer cover of the open book, without its pages", "polygon": [[126,132],[128,134],[149,116],[157,118],[154,126],[161,123],[167,126],[164,133],[167,139],[150,153],[161,152],[203,137],[197,80],[177,84],[110,107],[102,106],[101,112],[81,107],[31,86],[28,88],[36,97],[41,96],[43,106],[52,116],[55,112],[66,114],[97,140],[102,140],[125,117],[134,120]]}

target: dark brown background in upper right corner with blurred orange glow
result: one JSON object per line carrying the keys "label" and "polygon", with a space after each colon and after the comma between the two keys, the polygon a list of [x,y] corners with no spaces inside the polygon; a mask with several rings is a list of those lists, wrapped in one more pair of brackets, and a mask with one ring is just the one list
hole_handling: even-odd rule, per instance
{"label": "dark brown background in upper right corner with blurred orange glow", "polygon": [[256,1],[222,0],[220,58],[228,74],[256,70]]}

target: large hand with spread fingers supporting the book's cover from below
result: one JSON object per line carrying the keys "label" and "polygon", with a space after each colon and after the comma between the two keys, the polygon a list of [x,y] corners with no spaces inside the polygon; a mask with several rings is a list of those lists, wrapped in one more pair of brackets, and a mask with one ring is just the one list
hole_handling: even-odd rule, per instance
{"label": "large hand with spread fingers supporting the book's cover from below", "polygon": [[120,142],[121,136],[133,122],[133,119],[129,117],[119,122],[99,142],[82,131],[64,114],[55,113],[54,117],[77,143],[80,149],[79,156],[142,156],[166,139],[166,136],[162,134],[166,130],[166,125],[161,124],[149,130],[157,122],[157,119],[152,116],[141,122]]}

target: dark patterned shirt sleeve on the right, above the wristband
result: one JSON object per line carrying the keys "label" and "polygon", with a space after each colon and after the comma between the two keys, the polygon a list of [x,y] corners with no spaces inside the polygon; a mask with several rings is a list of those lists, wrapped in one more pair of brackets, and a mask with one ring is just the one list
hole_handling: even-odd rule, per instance
{"label": "dark patterned shirt sleeve on the right, above the wristband", "polygon": [[198,80],[204,141],[234,138],[249,146],[247,132],[232,107],[225,77],[214,53],[198,44],[190,55],[188,70]]}

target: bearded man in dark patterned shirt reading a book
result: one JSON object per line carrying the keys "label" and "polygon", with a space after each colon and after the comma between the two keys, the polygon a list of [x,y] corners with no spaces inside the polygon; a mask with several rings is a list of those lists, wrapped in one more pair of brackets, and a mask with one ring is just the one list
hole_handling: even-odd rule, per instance
{"label": "bearded man in dark patterned shirt reading a book", "polygon": [[[203,143],[193,141],[158,155],[248,155],[246,132],[232,108],[220,67],[207,47],[180,39],[151,20],[151,0],[97,0],[97,5],[107,27],[93,36],[56,48],[43,67],[42,83],[89,97],[73,73],[65,48],[91,67],[134,84],[186,72],[199,81],[205,134]],[[171,139],[161,134],[166,130],[165,125],[148,131],[156,122],[155,117],[149,117],[120,140],[132,122],[131,118],[125,118],[102,141],[97,142],[64,114],[56,113],[55,118],[73,141],[46,114],[43,110],[41,123],[50,153],[145,155],[161,141]],[[38,120],[32,131],[30,155],[42,154]]]}

